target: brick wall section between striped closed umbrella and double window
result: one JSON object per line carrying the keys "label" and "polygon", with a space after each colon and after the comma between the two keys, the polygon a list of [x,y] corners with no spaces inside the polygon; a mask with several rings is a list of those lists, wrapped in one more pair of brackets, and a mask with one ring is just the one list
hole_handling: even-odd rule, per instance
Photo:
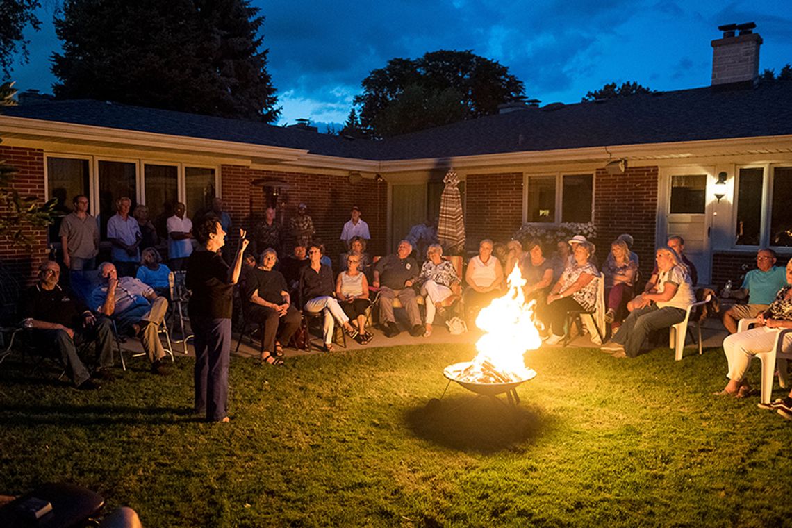
{"label": "brick wall section between striped closed umbrella and double window", "polygon": [[523,223],[523,173],[470,174],[466,178],[466,246],[482,238],[508,241]]}

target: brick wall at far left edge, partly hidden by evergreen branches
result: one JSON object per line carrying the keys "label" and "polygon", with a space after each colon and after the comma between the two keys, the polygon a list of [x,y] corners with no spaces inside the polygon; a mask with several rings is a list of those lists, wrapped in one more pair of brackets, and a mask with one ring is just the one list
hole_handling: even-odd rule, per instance
{"label": "brick wall at far left edge, partly hidden by evergreen branches", "polygon": [[[17,169],[10,181],[10,188],[21,196],[35,196],[42,203],[46,201],[43,150],[0,145],[0,159]],[[6,213],[5,209],[4,204],[0,204],[0,215]],[[0,264],[4,272],[21,287],[32,281],[49,253],[46,230],[25,227],[23,231],[34,239],[31,248],[13,245],[9,237],[0,237]]]}

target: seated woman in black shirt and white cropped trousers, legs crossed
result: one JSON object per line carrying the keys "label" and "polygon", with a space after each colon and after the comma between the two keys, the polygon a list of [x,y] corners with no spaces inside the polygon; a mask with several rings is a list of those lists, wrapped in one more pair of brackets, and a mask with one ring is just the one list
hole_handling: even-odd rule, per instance
{"label": "seated woman in black shirt and white cropped trousers, legs crossed", "polygon": [[322,245],[311,244],[308,249],[310,264],[302,269],[299,275],[300,302],[303,310],[324,312],[325,321],[322,337],[325,340],[325,351],[332,352],[333,328],[335,321],[344,325],[345,331],[353,339],[357,336],[356,329],[349,324],[349,317],[341,310],[336,298],[333,297],[333,272],[326,264],[322,264]]}

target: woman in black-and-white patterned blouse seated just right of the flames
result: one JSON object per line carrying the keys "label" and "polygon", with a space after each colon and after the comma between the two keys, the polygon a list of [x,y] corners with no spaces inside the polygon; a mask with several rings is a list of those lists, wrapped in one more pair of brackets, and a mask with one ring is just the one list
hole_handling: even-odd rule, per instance
{"label": "woman in black-and-white patterned blouse seated just right of the flames", "polygon": [[566,313],[569,310],[582,310],[592,313],[596,307],[597,280],[600,272],[588,259],[594,254],[591,242],[582,242],[575,246],[573,263],[569,264],[550,289],[547,295],[547,307],[541,318],[545,326],[551,330],[546,344],[557,344],[564,339]]}

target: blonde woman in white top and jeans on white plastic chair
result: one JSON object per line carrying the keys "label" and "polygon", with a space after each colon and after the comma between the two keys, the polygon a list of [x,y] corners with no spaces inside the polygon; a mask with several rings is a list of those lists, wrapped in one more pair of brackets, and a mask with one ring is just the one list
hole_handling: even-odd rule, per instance
{"label": "blonde woman in white top and jeans on white plastic chair", "polygon": [[634,358],[640,354],[649,333],[682,322],[687,307],[695,302],[687,266],[676,251],[666,245],[657,249],[655,258],[657,284],[634,298],[636,309],[613,336],[613,344],[603,346],[604,350],[614,351],[614,357]]}

